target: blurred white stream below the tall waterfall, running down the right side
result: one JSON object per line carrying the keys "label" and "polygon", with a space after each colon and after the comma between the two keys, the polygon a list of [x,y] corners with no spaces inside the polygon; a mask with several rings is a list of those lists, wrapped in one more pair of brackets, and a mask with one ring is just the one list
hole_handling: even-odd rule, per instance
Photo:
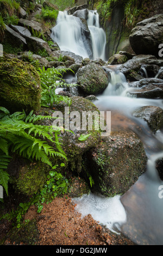
{"label": "blurred white stream below the tall waterfall, running down the right side", "polygon": [[[145,121],[133,117],[137,108],[163,108],[163,102],[159,99],[129,97],[129,90],[134,88],[129,86],[123,74],[112,71],[108,88],[98,96],[95,105],[103,111],[118,111],[126,115],[128,126],[144,144],[148,156],[147,171],[122,197],[103,198],[91,193],[75,198],[74,202],[83,216],[91,214],[96,221],[112,231],[118,229],[139,245],[163,245],[163,198],[159,198],[159,187],[163,186],[163,181],[155,168],[156,159],[163,157],[163,133],[159,131],[154,135]],[[130,120],[141,129],[132,129]]]}

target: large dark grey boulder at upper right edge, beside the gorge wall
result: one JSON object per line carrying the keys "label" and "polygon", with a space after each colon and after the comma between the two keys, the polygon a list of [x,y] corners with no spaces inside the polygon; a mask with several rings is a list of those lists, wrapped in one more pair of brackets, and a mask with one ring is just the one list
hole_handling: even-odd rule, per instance
{"label": "large dark grey boulder at upper right edge, beside the gorge wall", "polygon": [[162,43],[163,14],[137,23],[130,34],[130,45],[136,54],[153,54],[158,57]]}

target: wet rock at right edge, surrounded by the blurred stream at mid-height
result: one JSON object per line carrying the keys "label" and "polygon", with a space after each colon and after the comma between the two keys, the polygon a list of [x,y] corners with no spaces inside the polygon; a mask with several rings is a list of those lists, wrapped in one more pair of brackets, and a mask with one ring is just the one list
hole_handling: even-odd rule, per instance
{"label": "wet rock at right edge, surrounded by the blurred stream at mid-height", "polygon": [[160,107],[141,107],[134,112],[134,116],[147,121],[154,133],[163,127],[163,110]]}

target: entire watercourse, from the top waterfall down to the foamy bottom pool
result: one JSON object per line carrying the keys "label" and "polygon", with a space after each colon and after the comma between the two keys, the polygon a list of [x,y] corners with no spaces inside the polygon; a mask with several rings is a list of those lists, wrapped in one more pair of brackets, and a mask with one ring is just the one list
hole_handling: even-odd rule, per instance
{"label": "entire watercourse, from the top waterfall down to the foamy bottom pool", "polygon": [[[96,11],[89,11],[87,24],[90,29],[92,45],[83,37],[80,19],[59,12],[57,26],[52,29],[52,39],[62,51],[71,51],[83,58],[105,58],[105,33],[99,26]],[[84,44],[86,42],[86,44]],[[163,245],[163,181],[159,178],[155,161],[163,157],[163,132],[155,134],[147,123],[133,116],[133,112],[142,106],[158,106],[163,109],[160,99],[143,99],[130,96],[134,90],[126,77],[117,72],[116,66],[107,66],[111,80],[103,94],[93,102],[100,111],[111,111],[124,117],[124,120],[111,116],[112,129],[121,127],[130,129],[141,139],[148,156],[147,170],[139,180],[123,195],[105,198],[96,193],[74,198],[76,210],[86,216],[91,214],[99,223],[116,233],[123,233],[138,245]],[[117,83],[121,84],[118,88]],[[162,191],[162,192],[161,192]]]}

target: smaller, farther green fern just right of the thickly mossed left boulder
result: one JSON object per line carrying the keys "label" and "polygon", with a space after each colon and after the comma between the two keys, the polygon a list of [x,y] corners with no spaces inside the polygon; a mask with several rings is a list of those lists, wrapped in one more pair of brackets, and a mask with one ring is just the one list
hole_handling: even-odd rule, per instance
{"label": "smaller, farther green fern just right of the thickly mossed left boulder", "polygon": [[[66,87],[66,86],[74,86],[74,84],[66,84],[64,80],[62,80],[63,72],[66,72],[67,68],[55,69],[49,68],[45,70],[45,67],[42,69],[38,69],[41,78],[41,105],[44,107],[52,107],[53,103],[58,103],[59,101],[65,101],[68,105],[71,104],[71,100],[68,97],[61,96],[55,93],[55,89],[57,87]],[[58,82],[58,81],[61,82]]]}

